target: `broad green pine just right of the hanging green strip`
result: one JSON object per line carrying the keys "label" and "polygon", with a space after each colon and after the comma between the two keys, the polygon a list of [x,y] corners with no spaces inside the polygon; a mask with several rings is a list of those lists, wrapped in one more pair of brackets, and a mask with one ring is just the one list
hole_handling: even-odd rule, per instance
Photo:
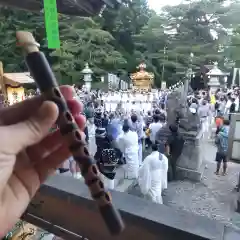
{"label": "broad green pine just right of the hanging green strip", "polygon": [[113,36],[91,18],[61,16],[59,22],[61,49],[52,52],[51,56],[60,79],[78,82],[86,62],[95,77],[124,68],[126,60],[111,44]]}

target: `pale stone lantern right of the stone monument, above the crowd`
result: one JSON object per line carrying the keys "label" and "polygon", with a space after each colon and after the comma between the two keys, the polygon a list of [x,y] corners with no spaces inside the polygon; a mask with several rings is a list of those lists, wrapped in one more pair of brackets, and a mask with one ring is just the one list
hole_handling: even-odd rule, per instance
{"label": "pale stone lantern right of the stone monument, above the crowd", "polygon": [[218,68],[218,63],[215,62],[213,68],[207,73],[207,76],[209,78],[208,86],[210,87],[210,92],[212,94],[214,94],[216,90],[221,86],[219,78],[225,77],[227,75],[227,73],[222,72]]}

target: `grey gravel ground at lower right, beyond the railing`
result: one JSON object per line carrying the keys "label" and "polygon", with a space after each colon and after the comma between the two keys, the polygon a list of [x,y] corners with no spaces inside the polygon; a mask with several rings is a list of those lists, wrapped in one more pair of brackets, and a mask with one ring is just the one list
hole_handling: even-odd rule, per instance
{"label": "grey gravel ground at lower right, beyond the railing", "polygon": [[169,183],[168,189],[164,192],[164,204],[240,228],[240,214],[235,212],[237,192],[234,190],[240,165],[229,163],[228,174],[216,176],[214,174],[215,146],[208,142],[202,148],[207,153],[203,160],[206,168],[202,181],[200,183],[190,181]]}

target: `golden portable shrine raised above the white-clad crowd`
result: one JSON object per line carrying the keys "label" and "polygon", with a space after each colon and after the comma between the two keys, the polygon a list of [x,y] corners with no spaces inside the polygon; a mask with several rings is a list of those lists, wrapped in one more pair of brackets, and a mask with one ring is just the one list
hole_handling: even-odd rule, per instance
{"label": "golden portable shrine raised above the white-clad crowd", "polygon": [[133,87],[139,90],[151,90],[154,81],[154,74],[145,70],[146,64],[144,63],[141,63],[138,68],[138,72],[131,74]]}

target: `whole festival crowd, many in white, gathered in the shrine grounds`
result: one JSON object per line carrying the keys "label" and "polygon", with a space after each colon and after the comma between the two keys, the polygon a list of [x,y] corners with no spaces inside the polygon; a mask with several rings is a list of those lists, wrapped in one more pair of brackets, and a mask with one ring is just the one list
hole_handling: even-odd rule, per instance
{"label": "whole festival crowd, many in white, gathered in the shrine grounds", "polygon": [[[167,124],[166,101],[170,93],[158,90],[81,94],[87,119],[86,140],[108,188],[115,187],[116,169],[122,165],[126,179],[135,179],[144,196],[162,203],[162,191],[168,181],[176,179],[177,161],[184,147],[177,122],[168,126],[171,134],[167,141],[164,144],[160,141],[160,129]],[[188,96],[188,106],[200,118],[203,137],[214,137],[215,173],[219,174],[223,162],[225,175],[229,120],[239,108],[239,89],[219,89],[214,94],[209,90],[197,91]],[[146,152],[150,155],[143,159]],[[70,171],[81,178],[80,169],[72,160]]]}

